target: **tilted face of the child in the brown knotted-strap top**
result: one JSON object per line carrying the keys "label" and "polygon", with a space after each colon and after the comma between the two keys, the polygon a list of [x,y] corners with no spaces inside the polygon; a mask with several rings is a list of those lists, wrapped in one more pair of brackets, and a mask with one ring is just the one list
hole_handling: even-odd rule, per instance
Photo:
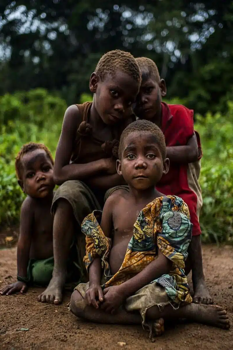
{"label": "tilted face of the child in the brown knotted-strap top", "polygon": [[130,116],[138,87],[131,76],[120,70],[114,76],[107,75],[102,82],[96,73],[92,73],[90,91],[95,93],[95,108],[105,124],[116,124]]}

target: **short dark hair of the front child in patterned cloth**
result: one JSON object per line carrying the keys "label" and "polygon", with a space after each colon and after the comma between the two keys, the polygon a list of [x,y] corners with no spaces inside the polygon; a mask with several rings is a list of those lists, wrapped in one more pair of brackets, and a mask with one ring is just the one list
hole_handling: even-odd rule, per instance
{"label": "short dark hair of the front child in patterned cloth", "polygon": [[165,142],[165,137],[164,137],[162,131],[160,130],[160,128],[156,124],[152,123],[149,120],[139,119],[139,120],[133,121],[133,123],[129,124],[123,130],[123,132],[121,134],[120,143],[119,143],[119,149],[118,149],[119,159],[122,158],[123,145],[124,145],[125,138],[133,132],[138,132],[139,134],[144,133],[144,132],[148,132],[148,133],[152,134],[153,136],[155,136],[155,138],[157,140],[156,143],[158,144],[160,151],[161,151],[162,159],[164,160],[166,158],[166,142]]}

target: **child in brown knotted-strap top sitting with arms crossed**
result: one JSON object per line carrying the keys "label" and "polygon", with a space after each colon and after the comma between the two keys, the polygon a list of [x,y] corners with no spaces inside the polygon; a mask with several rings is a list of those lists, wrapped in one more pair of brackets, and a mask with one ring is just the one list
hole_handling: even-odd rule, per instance
{"label": "child in brown knotted-strap top sitting with arms crossed", "polygon": [[82,266],[85,236],[80,225],[86,215],[103,207],[108,189],[124,185],[113,155],[121,132],[132,121],[131,105],[140,84],[141,72],[134,57],[129,52],[110,51],[90,76],[93,102],[70,106],[65,112],[54,164],[54,180],[61,185],[52,203],[54,269],[39,301],[61,303],[66,260],[74,239],[80,277],[87,280]]}

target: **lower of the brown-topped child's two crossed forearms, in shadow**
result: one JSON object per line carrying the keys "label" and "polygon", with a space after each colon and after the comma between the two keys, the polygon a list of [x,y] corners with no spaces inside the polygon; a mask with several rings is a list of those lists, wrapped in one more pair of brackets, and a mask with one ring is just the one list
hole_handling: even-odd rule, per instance
{"label": "lower of the brown-topped child's two crossed forearms, in shadow", "polygon": [[100,190],[108,190],[111,187],[125,185],[123,176],[116,174],[96,176],[86,181],[87,185]]}

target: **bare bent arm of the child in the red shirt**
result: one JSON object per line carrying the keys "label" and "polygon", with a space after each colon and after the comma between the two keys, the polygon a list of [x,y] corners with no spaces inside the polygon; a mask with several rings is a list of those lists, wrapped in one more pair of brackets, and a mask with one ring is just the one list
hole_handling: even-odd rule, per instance
{"label": "bare bent arm of the child in the red shirt", "polygon": [[166,147],[167,158],[173,163],[193,163],[198,160],[198,145],[196,135],[189,139],[186,146]]}

